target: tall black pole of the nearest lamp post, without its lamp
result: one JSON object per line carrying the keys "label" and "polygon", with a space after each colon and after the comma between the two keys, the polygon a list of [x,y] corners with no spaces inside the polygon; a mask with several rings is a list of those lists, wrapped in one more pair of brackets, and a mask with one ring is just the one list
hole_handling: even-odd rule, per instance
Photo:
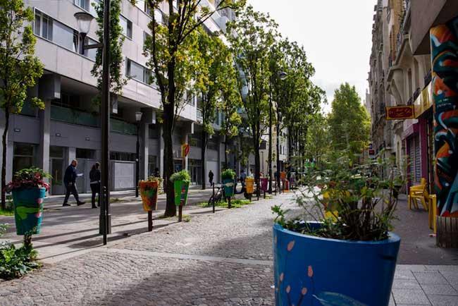
{"label": "tall black pole of the nearest lamp post, without its lamp", "polygon": [[109,136],[110,136],[110,0],[104,1],[104,39],[102,49],[102,88],[101,88],[101,210],[100,227],[104,235],[111,228],[109,191]]}

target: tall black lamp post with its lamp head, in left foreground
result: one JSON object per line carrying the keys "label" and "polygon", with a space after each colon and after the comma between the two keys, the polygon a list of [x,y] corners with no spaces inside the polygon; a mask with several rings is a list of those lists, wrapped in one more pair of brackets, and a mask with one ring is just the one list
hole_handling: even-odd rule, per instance
{"label": "tall black lamp post with its lamp head, in left foreground", "polygon": [[[84,45],[84,39],[89,32],[93,17],[86,12],[75,13],[78,20],[82,42],[80,49],[102,49],[102,84],[101,84],[101,192],[100,192],[100,216],[99,228],[104,236],[111,232],[110,215],[110,190],[109,190],[109,136],[110,136],[110,0],[104,0],[104,35],[99,44]],[[81,50],[80,50],[81,52]]]}

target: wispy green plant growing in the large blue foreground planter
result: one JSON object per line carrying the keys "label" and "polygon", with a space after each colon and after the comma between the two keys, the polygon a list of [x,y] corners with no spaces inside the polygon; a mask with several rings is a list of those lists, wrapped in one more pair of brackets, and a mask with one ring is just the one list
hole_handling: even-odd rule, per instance
{"label": "wispy green plant growing in the large blue foreground planter", "polygon": [[[379,176],[380,169],[388,173]],[[397,189],[404,185],[400,171],[388,160],[353,164],[346,154],[309,171],[306,188],[299,190],[297,204],[314,221],[312,229],[304,216],[288,219],[281,207],[273,207],[276,223],[291,231],[340,240],[377,241],[388,238],[397,206]]]}

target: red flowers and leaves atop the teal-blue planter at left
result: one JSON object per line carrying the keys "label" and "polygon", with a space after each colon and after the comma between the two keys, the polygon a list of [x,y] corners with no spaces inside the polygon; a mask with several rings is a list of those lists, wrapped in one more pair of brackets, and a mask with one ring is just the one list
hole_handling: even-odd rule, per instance
{"label": "red flowers and leaves atop the teal-blue planter at left", "polygon": [[22,169],[17,171],[13,176],[13,180],[6,185],[6,192],[21,188],[46,188],[46,190],[49,191],[49,183],[46,183],[44,178],[51,178],[51,176],[42,169]]}

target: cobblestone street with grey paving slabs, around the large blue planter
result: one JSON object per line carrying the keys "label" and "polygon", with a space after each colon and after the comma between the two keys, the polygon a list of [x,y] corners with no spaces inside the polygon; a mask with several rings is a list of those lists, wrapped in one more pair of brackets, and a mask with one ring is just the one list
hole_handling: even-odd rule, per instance
{"label": "cobblestone street with grey paving slabs, around the large blue planter", "polygon": [[[194,214],[45,264],[0,282],[0,305],[273,305],[270,207],[291,197]],[[390,305],[458,305],[458,267],[398,266]]]}

